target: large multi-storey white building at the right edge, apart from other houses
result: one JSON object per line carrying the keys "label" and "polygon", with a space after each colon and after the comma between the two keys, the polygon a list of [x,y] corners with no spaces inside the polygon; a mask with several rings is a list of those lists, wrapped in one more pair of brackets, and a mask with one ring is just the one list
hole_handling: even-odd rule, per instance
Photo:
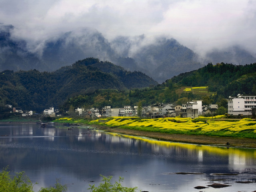
{"label": "large multi-storey white building at the right edge, apart from other houses", "polygon": [[256,108],[256,96],[243,96],[228,98],[228,114],[231,115],[252,115],[252,109]]}

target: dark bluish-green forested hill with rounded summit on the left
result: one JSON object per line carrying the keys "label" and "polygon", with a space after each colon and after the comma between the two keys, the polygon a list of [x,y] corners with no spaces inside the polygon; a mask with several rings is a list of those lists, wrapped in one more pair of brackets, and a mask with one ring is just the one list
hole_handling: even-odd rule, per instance
{"label": "dark bluish-green forested hill with rounded summit on the left", "polygon": [[62,104],[68,97],[88,94],[98,89],[125,91],[156,84],[142,72],[129,72],[110,62],[86,58],[54,72],[1,72],[0,104],[40,112],[49,106]]}

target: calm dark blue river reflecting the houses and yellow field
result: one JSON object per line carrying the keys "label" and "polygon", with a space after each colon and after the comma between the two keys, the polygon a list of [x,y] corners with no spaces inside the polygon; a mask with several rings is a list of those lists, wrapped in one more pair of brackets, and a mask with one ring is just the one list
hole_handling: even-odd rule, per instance
{"label": "calm dark blue river reflecting the houses and yellow field", "polygon": [[[0,124],[0,166],[25,171],[34,191],[54,186],[87,192],[101,176],[148,192],[256,190],[256,150],[182,144],[62,125]],[[241,183],[242,182],[242,183]],[[212,188],[213,183],[230,185]],[[195,189],[205,186],[205,189]],[[138,190],[138,191],[139,191]]]}

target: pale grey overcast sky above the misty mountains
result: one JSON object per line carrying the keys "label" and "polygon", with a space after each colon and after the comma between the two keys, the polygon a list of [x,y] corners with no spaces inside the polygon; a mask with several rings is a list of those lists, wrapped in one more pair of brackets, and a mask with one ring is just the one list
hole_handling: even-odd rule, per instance
{"label": "pale grey overcast sky above the misty mountains", "polygon": [[0,23],[27,40],[90,27],[110,41],[165,35],[198,52],[240,44],[256,54],[256,0],[0,0]]}

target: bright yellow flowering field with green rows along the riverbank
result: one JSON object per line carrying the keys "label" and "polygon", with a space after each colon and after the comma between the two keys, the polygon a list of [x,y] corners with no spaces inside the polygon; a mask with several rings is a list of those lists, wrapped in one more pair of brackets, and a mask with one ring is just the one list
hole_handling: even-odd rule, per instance
{"label": "bright yellow flowering field with green rows along the riverbank", "polygon": [[[216,116],[221,118],[223,116]],[[130,117],[112,117],[92,122],[111,127],[124,126],[133,130],[146,130],[152,132],[230,136],[243,138],[256,138],[256,122],[250,118],[240,121],[212,121],[212,118],[158,118],[140,119]]]}

